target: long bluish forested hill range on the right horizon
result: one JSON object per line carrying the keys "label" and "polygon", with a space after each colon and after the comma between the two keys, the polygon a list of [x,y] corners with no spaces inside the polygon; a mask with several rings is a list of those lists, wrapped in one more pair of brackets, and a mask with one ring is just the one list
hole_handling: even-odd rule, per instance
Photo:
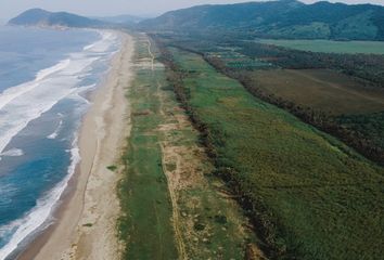
{"label": "long bluish forested hill range on the right horizon", "polygon": [[236,31],[260,38],[384,40],[384,6],[296,0],[199,5],[143,21],[139,28]]}

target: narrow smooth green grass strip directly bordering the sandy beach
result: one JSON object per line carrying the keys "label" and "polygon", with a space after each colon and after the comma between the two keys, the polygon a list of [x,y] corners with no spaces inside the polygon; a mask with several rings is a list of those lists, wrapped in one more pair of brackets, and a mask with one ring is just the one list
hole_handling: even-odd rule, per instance
{"label": "narrow smooth green grass strip directly bordering the sandy beach", "polygon": [[124,213],[119,236],[127,247],[124,259],[178,259],[162,150],[154,132],[161,121],[154,91],[165,78],[161,72],[151,72],[140,63],[146,56],[146,46],[138,43],[136,79],[129,92],[132,129],[124,158],[125,177],[119,185]]}

